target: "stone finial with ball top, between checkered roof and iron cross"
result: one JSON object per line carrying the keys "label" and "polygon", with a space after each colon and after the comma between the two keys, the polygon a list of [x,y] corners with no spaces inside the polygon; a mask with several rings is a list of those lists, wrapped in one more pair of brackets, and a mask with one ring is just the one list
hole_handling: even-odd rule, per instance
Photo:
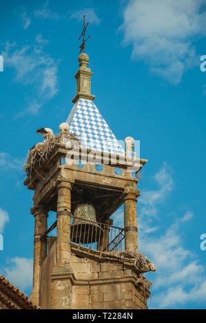
{"label": "stone finial with ball top, between checkered roof and iron cross", "polygon": [[89,63],[89,56],[85,53],[79,54],[80,68],[75,74],[76,78],[76,96],[72,102],[76,102],[80,98],[85,100],[94,100],[95,96],[91,94],[91,76],[92,71],[87,67]]}

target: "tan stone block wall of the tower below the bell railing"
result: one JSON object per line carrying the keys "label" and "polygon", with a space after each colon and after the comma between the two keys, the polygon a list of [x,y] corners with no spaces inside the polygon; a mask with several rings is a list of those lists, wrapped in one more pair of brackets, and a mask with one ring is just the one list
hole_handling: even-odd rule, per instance
{"label": "tan stone block wall of the tower below the bell railing", "polygon": [[[55,260],[56,243],[42,265],[41,309],[51,308],[51,272]],[[139,277],[132,269],[124,268],[123,264],[81,258],[74,253],[71,262],[75,276],[71,309],[147,309],[148,293],[136,284]]]}

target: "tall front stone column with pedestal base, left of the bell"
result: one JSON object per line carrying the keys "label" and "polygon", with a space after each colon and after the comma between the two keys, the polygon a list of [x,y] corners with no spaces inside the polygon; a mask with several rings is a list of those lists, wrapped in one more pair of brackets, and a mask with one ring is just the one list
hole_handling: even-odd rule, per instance
{"label": "tall front stone column with pedestal base, left of the bell", "polygon": [[70,223],[72,181],[58,179],[56,245],[57,259],[51,274],[51,309],[70,309],[72,280]]}

